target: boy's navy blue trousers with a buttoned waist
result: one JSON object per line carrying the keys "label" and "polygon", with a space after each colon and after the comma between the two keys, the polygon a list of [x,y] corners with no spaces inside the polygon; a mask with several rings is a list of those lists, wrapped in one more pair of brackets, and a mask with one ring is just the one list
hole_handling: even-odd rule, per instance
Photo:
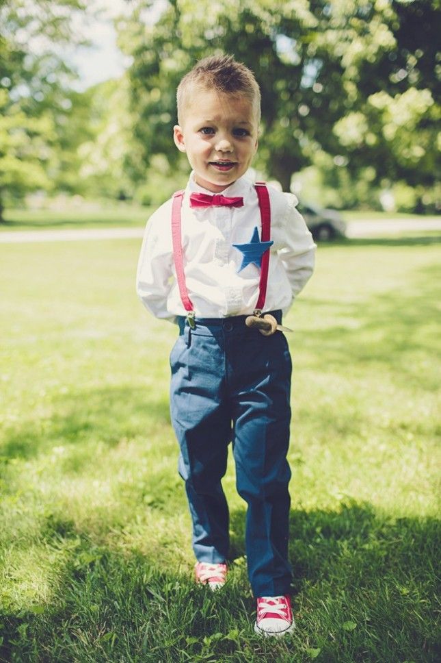
{"label": "boy's navy blue trousers with a buttoned waist", "polygon": [[[272,314],[280,323],[281,312]],[[246,327],[245,316],[196,319],[194,330],[185,318],[178,324],[170,410],[196,559],[224,562],[228,556],[221,479],[232,441],[237,491],[248,504],[245,549],[254,596],[287,594],[292,367],[286,338]]]}

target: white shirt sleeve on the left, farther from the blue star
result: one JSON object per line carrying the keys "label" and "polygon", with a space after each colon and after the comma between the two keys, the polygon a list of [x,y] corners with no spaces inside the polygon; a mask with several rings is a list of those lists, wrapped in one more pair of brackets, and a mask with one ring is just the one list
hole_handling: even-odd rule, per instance
{"label": "white shirt sleeve on the left, farther from the blue star", "polygon": [[[170,201],[169,201],[170,202]],[[167,301],[174,285],[171,208],[168,203],[150,217],[139,255],[136,291],[139,299],[157,318],[174,321]]]}

